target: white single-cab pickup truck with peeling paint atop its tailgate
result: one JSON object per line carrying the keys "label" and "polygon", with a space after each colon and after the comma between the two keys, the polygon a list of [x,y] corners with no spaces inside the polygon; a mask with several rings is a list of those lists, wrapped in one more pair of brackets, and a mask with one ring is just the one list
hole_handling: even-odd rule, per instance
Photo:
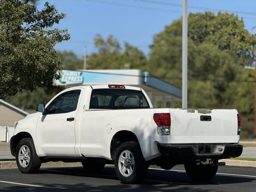
{"label": "white single-cab pickup truck with peeling paint atop its tailgate", "polygon": [[153,108],[143,89],[77,86],[15,123],[10,150],[22,173],[49,161],[82,162],[88,172],[114,164],[123,183],[142,181],[150,165],[184,164],[211,180],[223,158],[240,156],[237,110]]}

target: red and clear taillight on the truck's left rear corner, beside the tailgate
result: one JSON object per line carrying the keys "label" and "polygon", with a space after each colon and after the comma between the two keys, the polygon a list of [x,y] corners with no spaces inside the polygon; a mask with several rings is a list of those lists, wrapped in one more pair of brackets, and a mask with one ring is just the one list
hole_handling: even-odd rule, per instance
{"label": "red and clear taillight on the truck's left rear corner, beside the tailgate", "polygon": [[153,119],[157,125],[158,135],[169,135],[171,126],[170,113],[155,113]]}

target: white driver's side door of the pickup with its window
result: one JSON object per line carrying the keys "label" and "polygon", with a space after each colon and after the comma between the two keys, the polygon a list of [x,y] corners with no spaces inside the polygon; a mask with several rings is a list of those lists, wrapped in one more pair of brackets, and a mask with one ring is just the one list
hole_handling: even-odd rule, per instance
{"label": "white driver's side door of the pickup with its window", "polygon": [[82,89],[58,95],[38,118],[36,142],[44,156],[76,156],[75,122]]}

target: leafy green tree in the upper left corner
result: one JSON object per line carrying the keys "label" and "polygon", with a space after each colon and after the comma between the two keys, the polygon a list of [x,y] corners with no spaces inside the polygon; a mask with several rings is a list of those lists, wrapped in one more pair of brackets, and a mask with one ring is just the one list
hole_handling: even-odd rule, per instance
{"label": "leafy green tree in the upper left corner", "polygon": [[0,98],[58,79],[60,60],[54,50],[69,39],[67,30],[52,28],[64,18],[47,2],[42,11],[19,0],[0,2]]}

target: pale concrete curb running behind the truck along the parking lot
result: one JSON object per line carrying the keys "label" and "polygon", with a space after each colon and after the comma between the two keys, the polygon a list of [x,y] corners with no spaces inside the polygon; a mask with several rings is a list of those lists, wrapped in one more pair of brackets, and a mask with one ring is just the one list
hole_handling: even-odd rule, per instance
{"label": "pale concrete curb running behind the truck along the parking lot", "polygon": [[[256,167],[256,161],[222,159],[222,160],[219,160],[219,162],[226,162],[226,165],[228,166]],[[62,161],[58,161],[58,162],[42,163],[41,168],[80,167],[80,166],[82,166],[81,162],[64,163]],[[16,168],[18,168],[16,161],[0,161],[0,169],[16,169]]]}

